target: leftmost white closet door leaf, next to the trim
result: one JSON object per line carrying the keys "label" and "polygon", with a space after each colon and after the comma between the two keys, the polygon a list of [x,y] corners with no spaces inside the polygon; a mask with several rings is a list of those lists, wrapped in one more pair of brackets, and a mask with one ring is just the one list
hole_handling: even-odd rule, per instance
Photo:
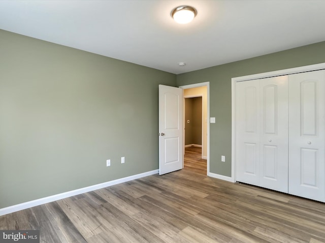
{"label": "leftmost white closet door leaf, next to the trim", "polygon": [[236,84],[236,180],[259,185],[259,81]]}

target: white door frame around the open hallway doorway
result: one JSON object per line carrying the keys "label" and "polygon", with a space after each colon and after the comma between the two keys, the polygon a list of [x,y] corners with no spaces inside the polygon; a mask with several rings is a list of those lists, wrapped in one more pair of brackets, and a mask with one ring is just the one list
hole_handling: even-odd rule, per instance
{"label": "white door frame around the open hallway doorway", "polygon": [[[191,89],[191,88],[199,88],[199,87],[207,87],[207,175],[210,175],[210,82],[197,83],[192,85],[183,85],[179,86],[183,90]],[[199,96],[198,96],[199,97]],[[189,97],[186,97],[189,98]],[[183,99],[185,99],[183,95]],[[185,102],[185,101],[184,101]],[[203,112],[203,111],[202,111]],[[203,116],[202,116],[203,119]],[[183,112],[183,122],[185,123],[185,113]],[[203,124],[202,124],[203,126]],[[202,129],[203,133],[203,129]],[[202,136],[203,138],[203,136]],[[183,141],[185,140],[183,133]],[[185,149],[185,144],[183,144],[183,149]]]}

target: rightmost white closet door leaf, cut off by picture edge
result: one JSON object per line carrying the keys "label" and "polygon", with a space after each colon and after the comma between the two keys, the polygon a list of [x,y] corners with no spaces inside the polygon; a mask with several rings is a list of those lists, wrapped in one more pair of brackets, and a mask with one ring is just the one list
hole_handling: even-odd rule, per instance
{"label": "rightmost white closet door leaf, cut off by picture edge", "polygon": [[325,71],[289,75],[289,193],[325,201]]}

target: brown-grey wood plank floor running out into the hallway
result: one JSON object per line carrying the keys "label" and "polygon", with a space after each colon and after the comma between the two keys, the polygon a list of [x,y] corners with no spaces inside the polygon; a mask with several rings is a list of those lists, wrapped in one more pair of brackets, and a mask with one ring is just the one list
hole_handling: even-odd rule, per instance
{"label": "brown-grey wood plank floor running out into the hallway", "polygon": [[325,242],[325,204],[207,177],[194,150],[183,170],[8,214],[0,229],[46,243]]}

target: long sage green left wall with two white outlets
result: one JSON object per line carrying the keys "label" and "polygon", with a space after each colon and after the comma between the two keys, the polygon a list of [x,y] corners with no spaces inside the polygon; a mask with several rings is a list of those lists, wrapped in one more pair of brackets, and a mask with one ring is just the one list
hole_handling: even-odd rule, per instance
{"label": "long sage green left wall with two white outlets", "polygon": [[0,208],[158,169],[159,84],[176,75],[0,30]]}

